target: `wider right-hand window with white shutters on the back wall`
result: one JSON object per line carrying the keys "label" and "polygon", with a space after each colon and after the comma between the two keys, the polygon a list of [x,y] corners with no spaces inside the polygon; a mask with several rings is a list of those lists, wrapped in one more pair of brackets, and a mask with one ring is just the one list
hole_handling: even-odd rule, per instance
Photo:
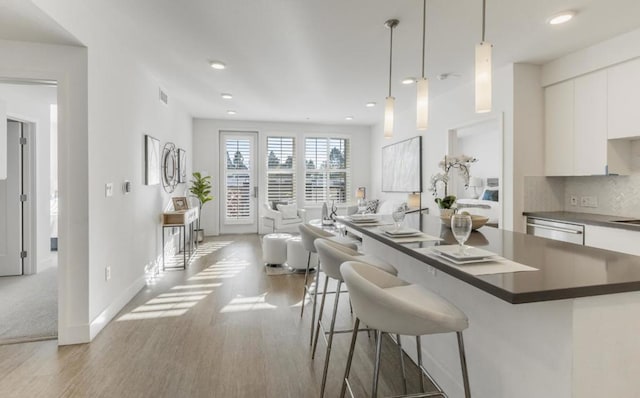
{"label": "wider right-hand window with white shutters on the back wall", "polygon": [[345,203],[351,191],[349,140],[305,139],[305,203]]}

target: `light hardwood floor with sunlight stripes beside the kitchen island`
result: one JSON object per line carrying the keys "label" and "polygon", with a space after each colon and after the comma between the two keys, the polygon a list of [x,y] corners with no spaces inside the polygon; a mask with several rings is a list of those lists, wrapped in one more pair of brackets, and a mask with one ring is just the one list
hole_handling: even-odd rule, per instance
{"label": "light hardwood floor with sunlight stripes beside the kitchen island", "polygon": [[[311,360],[303,275],[267,276],[257,235],[208,239],[186,271],[143,289],[91,344],[0,346],[0,397],[316,397],[325,345]],[[331,296],[329,296],[331,297]],[[340,328],[351,324],[341,300]],[[332,298],[325,313],[330,314]],[[327,320],[328,325],[328,320]],[[326,397],[338,396],[350,335],[337,335]],[[356,396],[371,389],[373,334],[359,336]],[[398,351],[384,339],[379,394],[402,393]],[[418,373],[408,363],[410,391]]]}

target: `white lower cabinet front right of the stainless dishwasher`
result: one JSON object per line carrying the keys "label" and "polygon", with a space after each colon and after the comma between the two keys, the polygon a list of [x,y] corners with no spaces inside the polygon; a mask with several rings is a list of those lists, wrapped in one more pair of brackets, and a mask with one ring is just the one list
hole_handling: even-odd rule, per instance
{"label": "white lower cabinet front right of the stainless dishwasher", "polygon": [[640,231],[585,225],[585,246],[640,256]]}

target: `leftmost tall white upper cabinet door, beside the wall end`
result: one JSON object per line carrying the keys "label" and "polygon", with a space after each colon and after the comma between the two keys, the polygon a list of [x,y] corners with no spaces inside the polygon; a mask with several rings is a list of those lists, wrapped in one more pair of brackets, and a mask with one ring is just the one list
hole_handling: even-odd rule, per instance
{"label": "leftmost tall white upper cabinet door, beside the wall end", "polygon": [[545,174],[573,173],[573,80],[547,87],[545,105]]}

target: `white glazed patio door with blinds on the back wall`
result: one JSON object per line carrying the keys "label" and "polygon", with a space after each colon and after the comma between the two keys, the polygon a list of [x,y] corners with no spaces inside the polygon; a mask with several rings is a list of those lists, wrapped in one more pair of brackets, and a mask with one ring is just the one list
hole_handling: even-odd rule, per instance
{"label": "white glazed patio door with blinds on the back wall", "polygon": [[257,233],[257,133],[222,132],[221,233]]}

